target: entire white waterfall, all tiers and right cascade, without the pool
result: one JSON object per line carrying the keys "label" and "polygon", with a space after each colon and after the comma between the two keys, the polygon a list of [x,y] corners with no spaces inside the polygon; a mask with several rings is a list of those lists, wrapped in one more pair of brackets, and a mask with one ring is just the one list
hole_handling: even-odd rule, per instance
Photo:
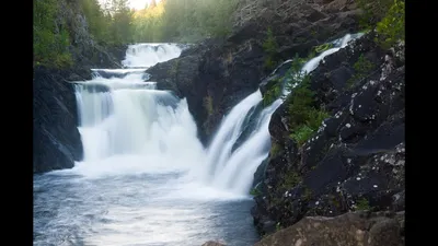
{"label": "entire white waterfall, all tiers and right cascade, without the pool", "polygon": [[[309,60],[301,70],[313,71],[324,57],[358,36],[348,34],[334,40],[333,48]],[[224,116],[205,150],[196,138],[196,125],[186,101],[155,90],[154,82],[143,82],[145,73],[138,68],[146,66],[145,60],[157,63],[157,57],[169,58],[163,54],[176,56],[175,50],[181,52],[180,47],[168,44],[130,46],[125,63],[137,69],[96,69],[93,80],[76,84],[84,147],[84,160],[76,168],[88,175],[184,169],[209,187],[245,196],[256,168],[268,156],[270,116],[283,99],[263,107],[260,90],[243,98]],[[155,54],[152,59],[151,52]],[[102,77],[103,73],[106,75]]]}

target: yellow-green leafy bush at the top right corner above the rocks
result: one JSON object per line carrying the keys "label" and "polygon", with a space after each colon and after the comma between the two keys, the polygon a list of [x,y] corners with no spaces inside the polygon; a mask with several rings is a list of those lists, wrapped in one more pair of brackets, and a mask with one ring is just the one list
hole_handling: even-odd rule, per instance
{"label": "yellow-green leafy bush at the top right corner above the rocks", "polygon": [[404,40],[405,7],[404,1],[394,0],[387,15],[377,24],[378,43],[382,48],[390,48],[399,40]]}

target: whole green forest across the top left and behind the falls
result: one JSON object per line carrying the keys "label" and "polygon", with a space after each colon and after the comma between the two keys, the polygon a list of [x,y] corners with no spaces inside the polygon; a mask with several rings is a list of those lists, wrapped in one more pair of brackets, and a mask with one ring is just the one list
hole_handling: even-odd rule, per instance
{"label": "whole green forest across the top left and behind the falls", "polygon": [[[34,66],[68,67],[74,24],[66,16],[67,0],[35,0],[33,9]],[[227,35],[237,0],[152,0],[145,9],[128,0],[77,0],[88,33],[102,46],[177,42],[195,43]],[[62,5],[64,3],[64,5]],[[71,7],[70,4],[70,8]]]}

